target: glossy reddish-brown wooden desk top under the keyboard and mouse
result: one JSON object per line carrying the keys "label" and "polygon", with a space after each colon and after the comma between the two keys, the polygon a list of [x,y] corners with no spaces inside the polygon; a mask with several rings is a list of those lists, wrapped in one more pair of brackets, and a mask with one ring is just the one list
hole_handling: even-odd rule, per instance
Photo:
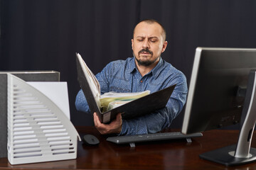
{"label": "glossy reddish-brown wooden desk top under the keyboard and mouse", "polygon": [[[97,136],[100,145],[87,146],[78,142],[78,158],[59,162],[11,166],[7,158],[1,158],[0,169],[256,169],[256,163],[227,167],[198,157],[203,152],[233,145],[238,139],[237,130],[203,132],[203,137],[193,138],[192,143],[186,140],[137,143],[132,149],[129,145],[107,142],[94,127],[77,129],[80,135]],[[256,147],[255,134],[252,147]]]}

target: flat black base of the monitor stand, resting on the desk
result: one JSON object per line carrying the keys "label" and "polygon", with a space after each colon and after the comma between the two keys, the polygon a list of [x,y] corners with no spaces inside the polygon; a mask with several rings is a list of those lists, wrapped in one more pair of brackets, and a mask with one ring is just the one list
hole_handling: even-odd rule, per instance
{"label": "flat black base of the monitor stand, resting on the desk", "polygon": [[233,157],[230,153],[234,153],[235,149],[236,145],[230,145],[228,147],[223,147],[220,149],[215,149],[213,151],[200,154],[199,157],[211,162],[223,164],[225,166],[237,166],[256,162],[255,148],[250,147],[250,157],[248,158]]}

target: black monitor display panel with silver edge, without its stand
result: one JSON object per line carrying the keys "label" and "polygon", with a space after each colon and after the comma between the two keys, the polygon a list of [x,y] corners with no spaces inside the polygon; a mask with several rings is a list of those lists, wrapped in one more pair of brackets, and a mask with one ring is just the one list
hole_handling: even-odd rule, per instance
{"label": "black monitor display panel with silver edge, without its stand", "polygon": [[240,123],[252,69],[256,49],[198,47],[181,131],[203,132]]}

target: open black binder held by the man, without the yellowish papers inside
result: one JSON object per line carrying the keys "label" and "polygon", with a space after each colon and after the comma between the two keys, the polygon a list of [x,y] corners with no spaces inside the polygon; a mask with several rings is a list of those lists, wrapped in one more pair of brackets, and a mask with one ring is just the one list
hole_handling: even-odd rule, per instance
{"label": "open black binder held by the man, without the yellowish papers inside", "polygon": [[[130,119],[164,108],[176,86],[169,86],[166,89],[161,89],[160,91],[129,101],[110,111],[102,112],[98,99],[100,97],[99,82],[97,82],[97,79],[78,53],[76,54],[76,62],[80,87],[85,94],[90,111],[97,113],[101,123],[110,123],[111,120],[116,118],[118,113],[122,113],[122,118]],[[98,89],[97,93],[95,89]]]}

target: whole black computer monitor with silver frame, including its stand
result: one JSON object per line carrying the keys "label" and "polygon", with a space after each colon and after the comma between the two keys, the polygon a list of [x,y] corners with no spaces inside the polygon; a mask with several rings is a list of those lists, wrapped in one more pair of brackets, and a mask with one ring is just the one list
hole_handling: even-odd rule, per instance
{"label": "whole black computer monitor with silver frame, including its stand", "polygon": [[181,132],[241,123],[237,145],[201,158],[227,166],[256,161],[256,149],[250,147],[256,120],[255,70],[256,49],[196,48]]}

